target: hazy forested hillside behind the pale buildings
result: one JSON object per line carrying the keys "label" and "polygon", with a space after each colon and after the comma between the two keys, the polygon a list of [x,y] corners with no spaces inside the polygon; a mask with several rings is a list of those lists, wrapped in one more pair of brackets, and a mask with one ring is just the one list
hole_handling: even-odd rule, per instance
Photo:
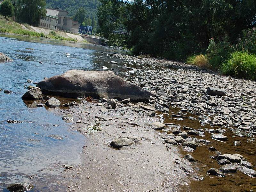
{"label": "hazy forested hillside behind the pale buildings", "polygon": [[46,8],[61,8],[68,11],[68,16],[73,17],[76,11],[83,7],[86,17],[94,16],[97,20],[97,8],[100,5],[98,0],[46,0]]}

